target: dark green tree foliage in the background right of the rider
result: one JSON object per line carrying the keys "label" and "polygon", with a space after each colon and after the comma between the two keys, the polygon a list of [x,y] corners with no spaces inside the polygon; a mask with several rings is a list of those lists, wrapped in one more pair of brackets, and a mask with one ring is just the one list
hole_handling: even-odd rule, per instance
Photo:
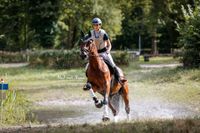
{"label": "dark green tree foliage in the background right of the rider", "polygon": [[136,49],[140,35],[142,49],[153,49],[154,42],[157,42],[160,52],[171,52],[171,48],[177,47],[179,36],[174,21],[183,21],[181,5],[188,3],[185,0],[127,0],[121,6],[122,34],[117,36],[114,47]]}

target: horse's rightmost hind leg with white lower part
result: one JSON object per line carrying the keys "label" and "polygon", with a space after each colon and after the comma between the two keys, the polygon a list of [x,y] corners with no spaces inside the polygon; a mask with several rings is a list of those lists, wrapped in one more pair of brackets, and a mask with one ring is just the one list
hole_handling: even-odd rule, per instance
{"label": "horse's rightmost hind leg with white lower part", "polygon": [[127,119],[130,120],[130,105],[129,105],[129,97],[128,97],[128,84],[125,83],[124,84],[124,87],[123,87],[123,90],[122,90],[122,97],[123,97],[123,100],[124,100],[124,103],[125,103],[125,111],[126,111],[126,114],[127,114]]}

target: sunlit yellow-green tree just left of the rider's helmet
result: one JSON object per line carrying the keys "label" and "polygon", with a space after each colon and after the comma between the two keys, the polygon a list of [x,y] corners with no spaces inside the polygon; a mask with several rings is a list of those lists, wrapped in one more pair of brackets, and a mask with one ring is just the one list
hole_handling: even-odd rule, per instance
{"label": "sunlit yellow-green tree just left of the rider's helmet", "polygon": [[73,48],[78,43],[80,30],[88,29],[92,10],[91,0],[62,0],[61,15],[57,23],[59,33],[56,36],[55,47]]}

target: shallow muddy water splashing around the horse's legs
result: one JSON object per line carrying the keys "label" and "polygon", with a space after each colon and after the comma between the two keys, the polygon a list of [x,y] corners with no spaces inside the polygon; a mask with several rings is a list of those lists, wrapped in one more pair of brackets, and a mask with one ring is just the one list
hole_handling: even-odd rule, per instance
{"label": "shallow muddy water splashing around the horse's legs", "polygon": [[[121,102],[122,103],[122,102]],[[35,103],[43,109],[35,110],[34,113],[42,123],[62,124],[95,124],[101,122],[103,108],[95,108],[92,100],[62,100],[41,101]],[[126,120],[124,104],[122,103],[119,120]],[[133,100],[131,101],[131,119],[173,119],[190,118],[199,116],[199,110],[190,110],[187,106],[166,103],[161,100]],[[113,116],[110,111],[110,118]]]}

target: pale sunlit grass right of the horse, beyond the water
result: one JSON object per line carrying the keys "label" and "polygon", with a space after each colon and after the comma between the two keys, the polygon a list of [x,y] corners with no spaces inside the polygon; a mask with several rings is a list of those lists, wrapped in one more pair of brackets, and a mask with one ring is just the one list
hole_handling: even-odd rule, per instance
{"label": "pale sunlit grass right of the horse, beyond the water", "polygon": [[200,110],[200,70],[162,68],[134,70],[127,74],[133,97],[156,97],[160,100],[186,104]]}

